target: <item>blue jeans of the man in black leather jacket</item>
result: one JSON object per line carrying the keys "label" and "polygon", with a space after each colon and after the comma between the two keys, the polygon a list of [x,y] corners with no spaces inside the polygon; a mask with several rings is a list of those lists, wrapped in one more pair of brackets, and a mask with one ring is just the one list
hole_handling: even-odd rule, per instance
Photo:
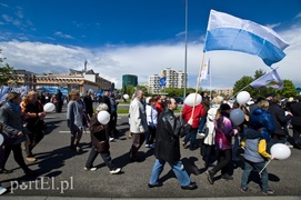
{"label": "blue jeans of the man in black leather jacket", "polygon": [[[163,171],[164,164],[165,164],[164,160],[155,159],[153,168],[152,168],[151,177],[149,180],[150,184],[158,183],[159,177]],[[172,162],[169,164],[170,164],[171,169],[173,170],[175,177],[178,178],[180,184],[182,187],[189,186],[190,184],[190,177],[188,176],[182,162],[179,160],[179,161],[175,161],[175,162]]]}

